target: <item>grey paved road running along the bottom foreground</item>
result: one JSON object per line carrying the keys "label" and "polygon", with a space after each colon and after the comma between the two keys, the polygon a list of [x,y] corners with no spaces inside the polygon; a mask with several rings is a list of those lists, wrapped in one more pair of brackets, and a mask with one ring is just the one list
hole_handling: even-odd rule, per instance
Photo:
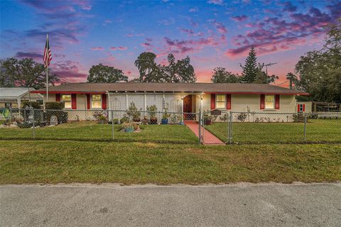
{"label": "grey paved road running along the bottom foreground", "polygon": [[341,183],[6,185],[0,226],[341,226]]}

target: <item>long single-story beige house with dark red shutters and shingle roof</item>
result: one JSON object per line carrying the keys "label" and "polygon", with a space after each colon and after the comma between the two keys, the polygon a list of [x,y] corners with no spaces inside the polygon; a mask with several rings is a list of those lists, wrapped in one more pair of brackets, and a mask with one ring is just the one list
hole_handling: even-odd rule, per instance
{"label": "long single-story beige house with dark red shutters and shingle roof", "polygon": [[[168,113],[198,113],[200,105],[204,111],[293,113],[296,112],[295,96],[307,95],[270,84],[70,83],[48,90],[48,101],[63,102],[65,110],[125,111],[134,102],[142,111],[156,105],[158,111],[167,109]],[[46,99],[45,89],[31,93],[43,94]]]}

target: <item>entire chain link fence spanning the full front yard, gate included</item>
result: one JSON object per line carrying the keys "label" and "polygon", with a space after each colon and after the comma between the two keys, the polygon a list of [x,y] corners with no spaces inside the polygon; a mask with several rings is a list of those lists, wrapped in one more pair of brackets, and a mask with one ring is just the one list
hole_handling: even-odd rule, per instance
{"label": "entire chain link fence spanning the full front yard, gate included", "polygon": [[0,139],[341,143],[341,113],[3,109]]}

